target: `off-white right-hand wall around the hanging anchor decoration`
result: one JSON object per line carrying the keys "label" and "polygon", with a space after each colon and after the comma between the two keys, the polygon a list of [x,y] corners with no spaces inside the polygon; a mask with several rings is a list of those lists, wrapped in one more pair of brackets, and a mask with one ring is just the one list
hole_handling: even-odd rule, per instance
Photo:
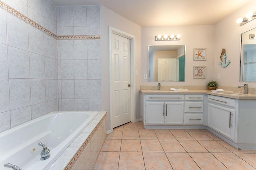
{"label": "off-white right-hand wall around the hanging anchor decoration", "polygon": [[[238,18],[243,18],[247,12],[256,11],[256,0],[251,1],[240,10],[232,15],[224,18],[216,24],[215,42],[214,42],[214,79],[217,80],[217,74],[221,74],[221,78],[217,80],[221,86],[239,86],[239,68],[240,68],[240,50],[241,50],[241,33],[256,27],[256,20],[250,21],[242,26],[236,23]],[[227,60],[231,63],[222,68],[218,65],[220,62],[221,49],[226,49]],[[248,83],[250,87],[256,87],[255,82]]]}

